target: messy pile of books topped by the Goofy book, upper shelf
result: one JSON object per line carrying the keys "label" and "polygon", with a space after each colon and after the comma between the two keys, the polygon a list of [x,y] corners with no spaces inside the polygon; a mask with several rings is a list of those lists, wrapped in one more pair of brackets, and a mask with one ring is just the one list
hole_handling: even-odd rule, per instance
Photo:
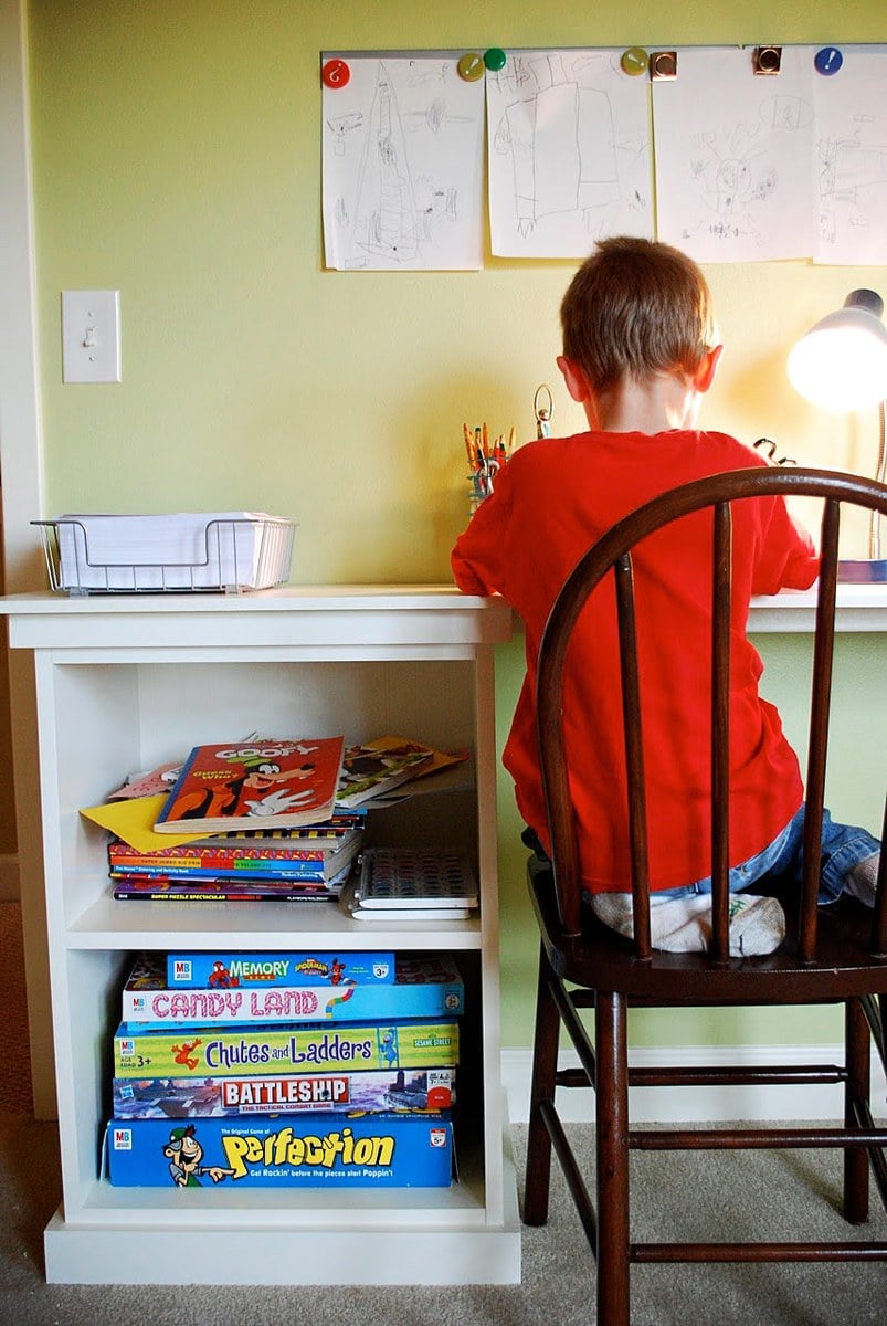
{"label": "messy pile of books topped by the Goofy book, upper shelf", "polygon": [[195,747],[84,814],[114,833],[117,899],[337,899],[369,810],[464,758],[404,737],[249,737]]}

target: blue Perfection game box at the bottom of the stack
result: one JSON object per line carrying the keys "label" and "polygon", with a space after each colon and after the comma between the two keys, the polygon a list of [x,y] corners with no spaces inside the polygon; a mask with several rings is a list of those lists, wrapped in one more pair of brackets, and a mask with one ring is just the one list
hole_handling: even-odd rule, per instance
{"label": "blue Perfection game box at the bottom of the stack", "polygon": [[111,1119],[103,1172],[133,1188],[448,1188],[447,1114]]}

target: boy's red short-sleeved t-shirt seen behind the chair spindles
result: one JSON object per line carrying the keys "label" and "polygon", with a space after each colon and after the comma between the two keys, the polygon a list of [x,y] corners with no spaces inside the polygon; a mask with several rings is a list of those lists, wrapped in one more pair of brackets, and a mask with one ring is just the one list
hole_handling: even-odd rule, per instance
{"label": "boy's red short-sleeved t-shirt seen behind the chair spindles", "polygon": [[[526,676],[504,751],[521,815],[549,846],[537,760],[536,663],[554,597],[586,549],[643,503],[705,475],[764,465],[735,438],[674,430],[583,432],[529,443],[496,479],[452,552],[468,594],[501,594],[524,621]],[[666,526],[635,552],[642,721],[654,888],[711,874],[711,513]],[[801,805],[798,761],[758,695],[745,635],[752,594],[806,589],[810,537],[781,499],[733,504],[731,865],[761,851]],[[581,659],[581,667],[578,660]],[[585,886],[631,887],[614,595],[610,578],[577,625],[565,674],[566,741]]]}

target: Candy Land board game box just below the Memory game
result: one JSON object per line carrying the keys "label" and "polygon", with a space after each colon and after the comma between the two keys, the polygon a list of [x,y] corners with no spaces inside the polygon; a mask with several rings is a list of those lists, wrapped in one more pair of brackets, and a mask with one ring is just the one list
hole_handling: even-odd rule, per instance
{"label": "Candy Land board game box just below the Memory game", "polygon": [[237,1024],[335,1022],[371,1018],[449,1017],[464,1009],[463,981],[451,955],[398,955],[394,981],[338,985],[225,987],[176,989],[167,985],[166,960],[158,953],[137,959],[122,994],[129,1026],[184,1029]]}

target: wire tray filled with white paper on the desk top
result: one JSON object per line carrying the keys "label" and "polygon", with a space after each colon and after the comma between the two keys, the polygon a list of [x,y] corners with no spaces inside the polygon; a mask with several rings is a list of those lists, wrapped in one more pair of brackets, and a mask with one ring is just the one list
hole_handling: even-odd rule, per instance
{"label": "wire tray filled with white paper on the desk top", "polygon": [[292,525],[264,512],[69,514],[53,524],[61,589],[265,589],[289,575]]}

